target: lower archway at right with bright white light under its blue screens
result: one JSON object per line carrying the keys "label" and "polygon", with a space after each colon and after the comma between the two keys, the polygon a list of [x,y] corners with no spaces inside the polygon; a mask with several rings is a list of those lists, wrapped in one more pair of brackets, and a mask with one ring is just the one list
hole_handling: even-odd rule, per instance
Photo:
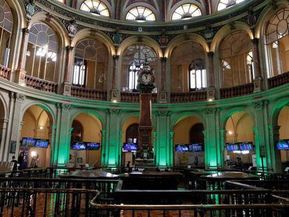
{"label": "lower archway at right with bright white light under its blue screens", "polygon": [[227,169],[256,167],[254,121],[247,112],[235,112],[225,124],[224,159]]}

